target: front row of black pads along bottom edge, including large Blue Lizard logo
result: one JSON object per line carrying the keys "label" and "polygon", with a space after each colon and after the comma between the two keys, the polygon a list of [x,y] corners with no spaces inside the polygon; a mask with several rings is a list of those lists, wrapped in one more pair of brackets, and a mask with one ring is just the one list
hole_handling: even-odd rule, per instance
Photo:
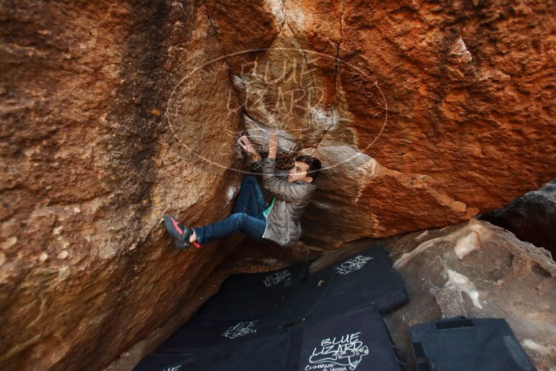
{"label": "front row of black pads along bottom edge, including large Blue Lizard logo", "polygon": [[288,327],[288,331],[267,335],[232,347],[215,344],[212,352],[150,354],[136,371],[401,370],[390,335],[374,308],[345,313],[317,324],[300,323]]}

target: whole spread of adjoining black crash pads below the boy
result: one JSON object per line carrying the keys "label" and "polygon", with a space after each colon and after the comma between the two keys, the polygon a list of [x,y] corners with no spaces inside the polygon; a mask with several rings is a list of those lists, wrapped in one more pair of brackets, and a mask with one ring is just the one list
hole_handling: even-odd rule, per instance
{"label": "whole spread of adjoining black crash pads below the boy", "polygon": [[408,297],[382,247],[290,273],[234,277],[138,370],[400,370],[379,311]]}

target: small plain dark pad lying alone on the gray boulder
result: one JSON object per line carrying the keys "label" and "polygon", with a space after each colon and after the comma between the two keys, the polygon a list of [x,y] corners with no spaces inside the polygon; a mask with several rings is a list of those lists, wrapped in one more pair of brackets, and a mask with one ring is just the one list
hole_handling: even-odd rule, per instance
{"label": "small plain dark pad lying alone on the gray boulder", "polygon": [[409,328],[418,371],[536,370],[505,320],[449,318]]}

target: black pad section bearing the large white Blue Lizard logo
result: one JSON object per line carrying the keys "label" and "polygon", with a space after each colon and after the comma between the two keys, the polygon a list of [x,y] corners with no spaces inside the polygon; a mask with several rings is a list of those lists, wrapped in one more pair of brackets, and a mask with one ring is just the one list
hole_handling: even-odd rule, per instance
{"label": "black pad section bearing the large white Blue Lizard logo", "polygon": [[295,370],[402,370],[390,334],[375,308],[297,327],[302,328],[302,340]]}

